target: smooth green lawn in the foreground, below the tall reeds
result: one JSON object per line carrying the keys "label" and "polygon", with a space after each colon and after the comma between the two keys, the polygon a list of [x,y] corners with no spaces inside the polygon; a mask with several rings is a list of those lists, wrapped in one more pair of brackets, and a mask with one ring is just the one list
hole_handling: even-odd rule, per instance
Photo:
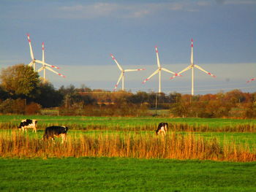
{"label": "smooth green lawn in the foreground, below the tall reeds", "polygon": [[256,162],[0,159],[0,191],[256,191]]}

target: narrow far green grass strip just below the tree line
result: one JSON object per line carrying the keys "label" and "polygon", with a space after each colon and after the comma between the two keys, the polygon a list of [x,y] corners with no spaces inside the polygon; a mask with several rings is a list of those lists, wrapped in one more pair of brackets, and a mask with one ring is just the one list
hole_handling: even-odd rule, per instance
{"label": "narrow far green grass strip just below the tree line", "polygon": [[58,123],[59,125],[78,124],[104,126],[156,126],[159,122],[187,123],[189,125],[208,125],[209,127],[234,126],[237,124],[256,124],[256,120],[236,120],[222,118],[155,118],[155,117],[86,117],[86,116],[49,116],[49,115],[0,115],[0,123],[20,123],[25,118],[37,119],[39,125],[43,123]]}

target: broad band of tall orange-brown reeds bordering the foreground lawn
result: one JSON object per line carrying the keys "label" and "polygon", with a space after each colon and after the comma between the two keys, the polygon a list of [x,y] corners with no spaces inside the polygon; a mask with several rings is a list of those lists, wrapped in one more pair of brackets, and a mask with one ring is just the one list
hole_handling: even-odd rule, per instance
{"label": "broad band of tall orange-brown reeds bordering the foreground lawn", "polygon": [[64,157],[126,157],[175,158],[214,161],[256,161],[256,151],[249,146],[225,143],[223,147],[215,138],[206,140],[194,134],[79,134],[67,142],[42,141],[12,131],[0,135],[0,156],[3,158],[64,158]]}

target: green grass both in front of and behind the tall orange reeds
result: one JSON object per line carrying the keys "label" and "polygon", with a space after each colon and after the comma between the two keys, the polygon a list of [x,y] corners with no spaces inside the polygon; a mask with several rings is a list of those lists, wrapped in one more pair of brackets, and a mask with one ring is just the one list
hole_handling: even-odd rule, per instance
{"label": "green grass both in front of and behind the tall orange reeds", "polygon": [[[0,115],[0,123],[18,125],[25,118],[38,120],[37,136],[31,130],[24,133],[37,139],[42,138],[46,126],[53,124],[69,126],[68,137],[89,134],[97,138],[97,134],[154,134],[159,122],[168,122],[207,126],[211,129],[195,131],[193,134],[206,139],[215,137],[221,144],[235,142],[248,145],[253,152],[256,148],[255,131],[215,131],[220,127],[255,126],[256,120]],[[12,134],[12,130],[3,128],[0,134]],[[189,131],[177,134],[186,135]],[[137,158],[0,158],[0,170],[0,191],[256,191],[255,161],[233,163]]]}

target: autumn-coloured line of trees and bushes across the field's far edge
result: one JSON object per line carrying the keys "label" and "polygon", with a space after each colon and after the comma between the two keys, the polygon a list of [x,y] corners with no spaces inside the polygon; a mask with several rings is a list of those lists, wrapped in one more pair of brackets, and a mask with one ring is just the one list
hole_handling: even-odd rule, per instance
{"label": "autumn-coloured line of trees and bushes across the field's far edge", "polygon": [[255,118],[256,93],[233,90],[227,93],[191,96],[181,93],[110,92],[81,85],[53,87],[43,83],[27,65],[2,69],[0,113],[37,114],[58,107],[59,115],[143,116],[150,110],[165,110],[169,117]]}

